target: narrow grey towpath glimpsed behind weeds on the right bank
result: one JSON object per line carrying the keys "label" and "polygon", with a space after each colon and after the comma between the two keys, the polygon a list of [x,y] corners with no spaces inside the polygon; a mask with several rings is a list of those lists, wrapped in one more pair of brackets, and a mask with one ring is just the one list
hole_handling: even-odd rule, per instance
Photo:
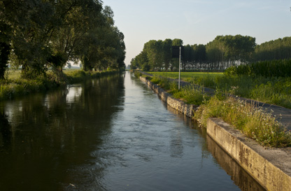
{"label": "narrow grey towpath glimpsed behind weeds on the right bank", "polygon": [[[152,74],[150,74],[150,73],[146,73],[146,72],[141,72],[141,73],[144,73],[148,76],[152,76]],[[171,80],[173,80],[173,79],[171,79]],[[176,81],[178,83],[178,80],[176,80]],[[180,86],[183,87],[185,85],[190,85],[190,83],[187,83],[183,80],[180,80]],[[195,85],[195,86],[199,87],[199,85]],[[215,90],[213,90],[211,88],[208,88],[208,87],[202,87],[202,88],[203,88],[204,92],[206,92],[207,94],[215,94]],[[235,97],[235,96],[233,96],[233,97]],[[286,129],[291,131],[291,109],[284,108],[282,106],[266,104],[264,102],[257,101],[254,99],[246,99],[243,97],[235,97],[235,98],[241,99],[241,100],[246,101],[247,103],[250,103],[250,104],[254,104],[257,107],[262,108],[263,111],[267,111],[269,113],[272,113],[272,115],[274,115],[277,118],[277,120],[279,122],[281,122],[286,127]]]}

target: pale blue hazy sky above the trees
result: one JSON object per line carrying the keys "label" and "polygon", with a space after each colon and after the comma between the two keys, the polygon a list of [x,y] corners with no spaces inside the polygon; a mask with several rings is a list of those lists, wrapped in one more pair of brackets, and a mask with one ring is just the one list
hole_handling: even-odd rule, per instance
{"label": "pale blue hazy sky above the trees", "polygon": [[183,45],[218,35],[252,36],[256,43],[291,36],[290,0],[103,0],[125,35],[125,64],[150,40],[180,38]]}

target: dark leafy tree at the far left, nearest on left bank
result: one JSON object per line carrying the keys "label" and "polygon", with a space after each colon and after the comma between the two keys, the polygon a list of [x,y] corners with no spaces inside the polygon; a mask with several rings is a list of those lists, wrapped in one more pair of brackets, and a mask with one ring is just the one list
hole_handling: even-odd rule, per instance
{"label": "dark leafy tree at the far left, nearest on left bank", "polygon": [[47,26],[52,22],[53,6],[52,1],[1,1],[1,33],[4,29],[11,64],[22,66],[25,77],[44,72],[43,65],[49,54]]}

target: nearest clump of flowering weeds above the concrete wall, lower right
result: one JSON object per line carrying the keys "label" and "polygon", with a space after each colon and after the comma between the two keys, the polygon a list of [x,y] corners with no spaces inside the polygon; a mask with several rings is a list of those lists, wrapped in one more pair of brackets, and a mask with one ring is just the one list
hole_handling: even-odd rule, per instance
{"label": "nearest clump of flowering weeds above the concrete wall, lower right", "polygon": [[291,132],[287,132],[271,113],[241,100],[232,97],[226,99],[211,97],[194,113],[194,119],[202,127],[206,127],[208,118],[221,118],[262,146],[276,148],[291,146]]}

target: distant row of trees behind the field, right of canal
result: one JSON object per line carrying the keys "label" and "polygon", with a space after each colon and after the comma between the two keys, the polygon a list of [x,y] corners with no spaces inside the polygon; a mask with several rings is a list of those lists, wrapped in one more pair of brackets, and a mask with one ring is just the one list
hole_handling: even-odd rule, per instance
{"label": "distant row of trees behind the field, right of canal", "polygon": [[[181,39],[151,40],[131,62],[132,69],[144,71],[175,71],[178,59],[172,58],[172,47],[183,46]],[[251,36],[216,36],[206,45],[185,45],[182,49],[183,70],[223,71],[229,66],[250,62],[290,59],[291,37],[278,38],[257,45]]]}

